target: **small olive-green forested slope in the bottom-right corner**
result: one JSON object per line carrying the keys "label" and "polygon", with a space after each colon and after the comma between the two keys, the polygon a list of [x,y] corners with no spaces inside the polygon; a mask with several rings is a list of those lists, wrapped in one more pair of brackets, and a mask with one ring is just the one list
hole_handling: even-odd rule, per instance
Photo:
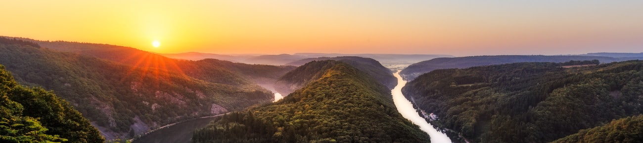
{"label": "small olive-green forested slope in the bottom-right corner", "polygon": [[581,130],[554,142],[643,142],[642,133],[643,115],[636,115]]}

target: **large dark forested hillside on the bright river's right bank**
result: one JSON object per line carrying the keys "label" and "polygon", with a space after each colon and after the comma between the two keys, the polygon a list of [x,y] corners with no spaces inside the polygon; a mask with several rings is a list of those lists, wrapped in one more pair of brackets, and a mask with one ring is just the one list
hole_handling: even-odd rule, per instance
{"label": "large dark forested hillside on the bright river's right bank", "polygon": [[433,124],[473,142],[551,142],[641,114],[643,61],[570,69],[557,63],[442,69],[422,74],[403,92],[437,114]]}

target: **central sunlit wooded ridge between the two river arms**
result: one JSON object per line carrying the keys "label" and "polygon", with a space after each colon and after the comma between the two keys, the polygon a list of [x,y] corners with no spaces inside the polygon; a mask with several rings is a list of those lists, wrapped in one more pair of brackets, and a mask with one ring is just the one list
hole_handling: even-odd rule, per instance
{"label": "central sunlit wooded ridge between the two river arms", "polygon": [[332,60],[298,69],[317,67],[324,67],[315,73],[320,76],[305,87],[276,103],[219,117],[195,131],[193,142],[430,142],[372,76]]}

